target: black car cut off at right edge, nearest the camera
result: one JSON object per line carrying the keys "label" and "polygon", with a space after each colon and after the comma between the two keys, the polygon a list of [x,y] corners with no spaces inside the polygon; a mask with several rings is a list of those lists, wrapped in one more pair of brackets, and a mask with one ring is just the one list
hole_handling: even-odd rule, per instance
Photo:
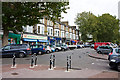
{"label": "black car cut off at right edge, nearest the camera", "polygon": [[112,58],[109,61],[109,66],[113,69],[117,69],[120,72],[120,55]]}

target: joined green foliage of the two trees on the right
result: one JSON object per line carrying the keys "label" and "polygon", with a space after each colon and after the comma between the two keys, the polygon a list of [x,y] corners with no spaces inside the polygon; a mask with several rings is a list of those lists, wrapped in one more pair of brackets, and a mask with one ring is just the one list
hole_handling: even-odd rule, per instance
{"label": "joined green foliage of the two trees on the right", "polygon": [[110,14],[96,17],[90,12],[78,13],[75,20],[82,34],[91,34],[94,41],[101,42],[113,42],[119,39],[118,22],[118,19]]}

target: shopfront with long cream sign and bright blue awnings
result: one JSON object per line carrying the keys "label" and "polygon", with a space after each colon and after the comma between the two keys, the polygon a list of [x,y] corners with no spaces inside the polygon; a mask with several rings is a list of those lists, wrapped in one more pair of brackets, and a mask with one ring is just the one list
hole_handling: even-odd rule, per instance
{"label": "shopfront with long cream sign and bright blue awnings", "polygon": [[47,36],[41,35],[32,35],[32,34],[23,34],[22,36],[23,43],[27,44],[48,44]]}

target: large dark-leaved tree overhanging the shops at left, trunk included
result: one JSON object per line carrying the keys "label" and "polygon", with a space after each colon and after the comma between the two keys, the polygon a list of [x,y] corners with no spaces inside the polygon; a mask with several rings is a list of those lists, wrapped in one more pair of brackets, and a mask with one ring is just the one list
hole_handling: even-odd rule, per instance
{"label": "large dark-leaved tree overhanging the shops at left, trunk included", "polygon": [[43,16],[53,22],[66,13],[68,2],[3,2],[2,3],[2,46],[8,44],[9,31],[22,32],[26,25],[35,25]]}

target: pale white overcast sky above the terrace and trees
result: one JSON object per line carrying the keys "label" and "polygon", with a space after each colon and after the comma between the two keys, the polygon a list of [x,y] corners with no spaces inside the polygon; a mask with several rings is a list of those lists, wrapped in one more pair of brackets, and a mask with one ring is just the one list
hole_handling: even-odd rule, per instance
{"label": "pale white overcast sky above the terrace and trees", "polygon": [[75,26],[74,23],[77,13],[92,12],[94,15],[102,15],[109,13],[118,18],[118,2],[120,0],[69,0],[70,9],[67,14],[62,13],[61,21],[69,21],[70,26]]}

